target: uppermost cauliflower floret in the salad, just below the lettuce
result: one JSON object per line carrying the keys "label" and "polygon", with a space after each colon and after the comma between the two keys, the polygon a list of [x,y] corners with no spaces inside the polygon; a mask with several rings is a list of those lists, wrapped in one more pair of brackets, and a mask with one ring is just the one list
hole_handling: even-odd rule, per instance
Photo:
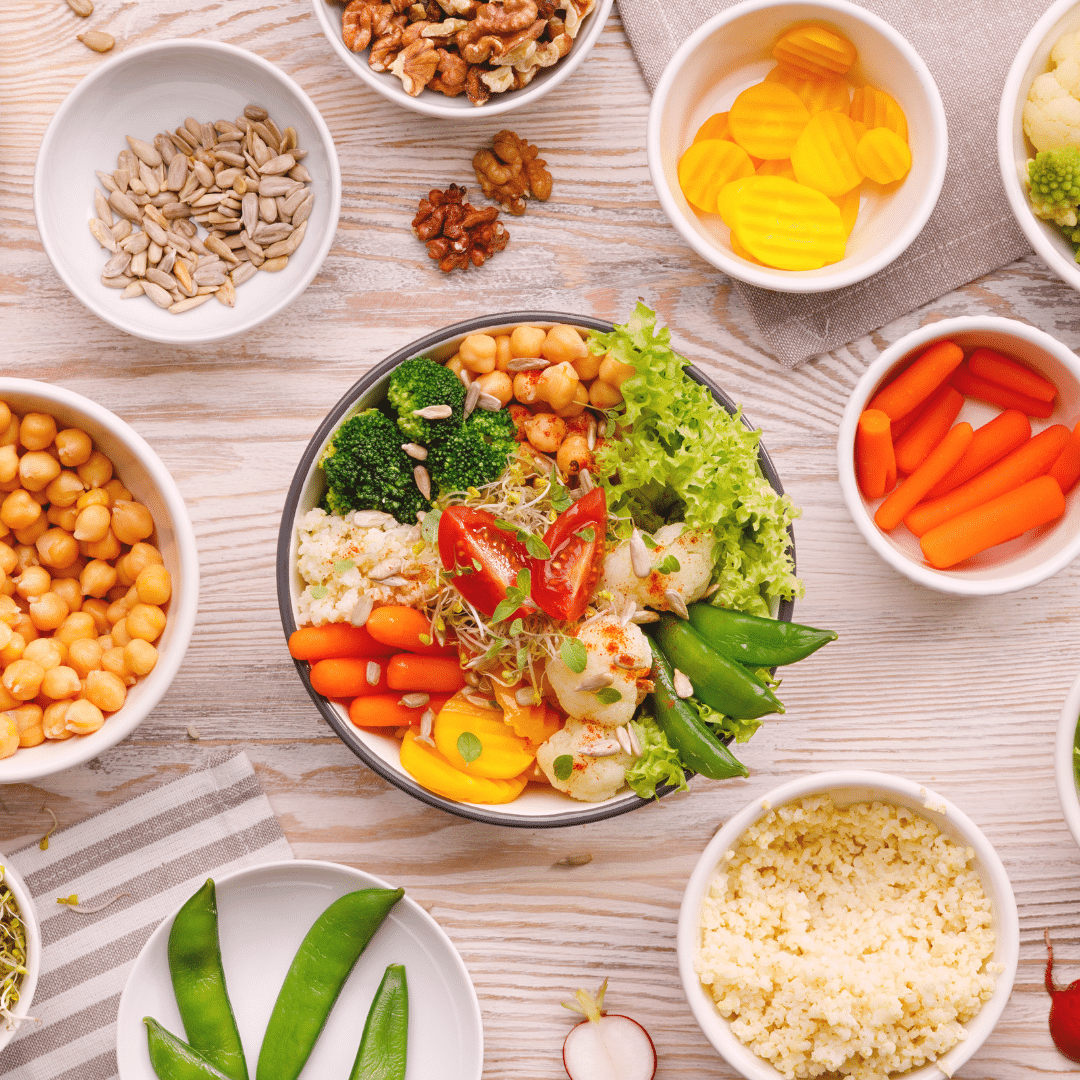
{"label": "uppermost cauliflower floret in the salad, just below the lettuce", "polygon": [[700,600],[713,576],[712,536],[675,522],[658,529],[652,539],[657,544],[656,550],[649,552],[652,566],[661,565],[669,555],[673,555],[678,559],[677,570],[671,573],[652,570],[647,578],[639,578],[634,573],[627,541],[604,559],[602,588],[658,611],[672,609],[664,597],[669,589],[674,589],[687,604]]}

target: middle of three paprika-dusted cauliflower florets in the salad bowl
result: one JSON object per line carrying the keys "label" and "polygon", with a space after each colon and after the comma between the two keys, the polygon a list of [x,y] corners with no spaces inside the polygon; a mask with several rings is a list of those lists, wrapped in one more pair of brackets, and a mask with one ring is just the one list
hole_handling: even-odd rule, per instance
{"label": "middle of three paprika-dusted cauliflower florets in the salad bowl", "polygon": [[[585,647],[585,670],[570,671],[562,657],[549,660],[548,681],[563,711],[575,719],[593,720],[606,728],[621,727],[652,689],[649,640],[640,627],[634,623],[624,626],[613,615],[602,616],[582,626],[578,640]],[[619,693],[617,701],[603,704],[596,690],[577,689],[608,675],[611,677],[608,687]]]}

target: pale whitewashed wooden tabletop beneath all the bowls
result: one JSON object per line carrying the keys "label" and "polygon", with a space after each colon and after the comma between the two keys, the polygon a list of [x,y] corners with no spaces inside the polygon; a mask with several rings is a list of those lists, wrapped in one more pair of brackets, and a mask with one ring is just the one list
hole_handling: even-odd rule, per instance
{"label": "pale whitewashed wooden tabletop beneath all the bowls", "polygon": [[[765,349],[731,283],[667,224],[649,184],[649,98],[615,14],[582,68],[530,108],[451,123],[392,106],[332,53],[307,0],[96,0],[90,23],[125,45],[208,37],[254,50],[299,81],[337,141],[340,228],[321,273],[284,314],[220,346],[127,337],[75,300],[35,228],[38,144],[65,95],[103,63],[75,40],[63,0],[0,5],[0,335],[4,370],[59,382],[113,409],[161,455],[199,539],[202,595],[175,684],[124,743],[35,785],[0,792],[0,848],[183,774],[213,747],[252,759],[297,856],[362,866],[430,906],[483,1009],[485,1077],[555,1080],[570,1016],[558,1002],[611,978],[608,1001],[656,1039],[659,1077],[734,1076],[686,1005],[675,922],[719,823],[778,783],[856,767],[935,787],[986,832],[1020,904],[1012,999],[964,1078],[1072,1066],[1054,1050],[1043,928],[1061,982],[1080,975],[1080,852],[1058,809],[1053,732],[1080,652],[1080,567],[1023,594],[954,599],[888,569],[840,498],[835,443],[865,365],[916,326],[977,312],[1026,320],[1080,347],[1076,294],[1034,256],[792,372]],[[316,0],[320,2],[320,0]],[[470,184],[474,149],[509,123],[555,176],[546,205],[509,221],[482,271],[445,276],[409,232],[417,199]],[[475,185],[473,185],[475,187]],[[409,340],[525,308],[623,320],[638,296],[676,347],[745,405],[788,491],[802,622],[840,639],[784,680],[787,713],[742,747],[746,781],[690,791],[600,824],[478,825],[369,772],[320,719],[285,649],[274,588],[279,515],[300,454],[360,374]],[[198,742],[186,735],[194,724]],[[553,866],[591,854],[573,868]],[[48,1078],[42,1077],[42,1080]]]}

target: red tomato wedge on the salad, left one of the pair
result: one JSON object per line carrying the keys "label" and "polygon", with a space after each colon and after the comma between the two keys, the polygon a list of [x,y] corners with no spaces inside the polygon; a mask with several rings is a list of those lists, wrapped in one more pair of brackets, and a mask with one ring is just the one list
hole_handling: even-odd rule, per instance
{"label": "red tomato wedge on the salad, left one of the pair", "polygon": [[[458,592],[477,611],[494,615],[507,598],[507,588],[529,568],[528,552],[511,532],[497,528],[486,510],[450,507],[438,519],[438,554],[455,572]],[[518,609],[514,618],[525,615]]]}

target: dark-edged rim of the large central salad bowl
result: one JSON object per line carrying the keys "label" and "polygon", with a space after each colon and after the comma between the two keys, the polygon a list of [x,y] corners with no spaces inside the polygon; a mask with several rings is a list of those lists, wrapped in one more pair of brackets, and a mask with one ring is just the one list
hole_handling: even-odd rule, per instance
{"label": "dark-edged rim of the large central salad bowl", "polygon": [[[285,498],[285,505],[282,510],[281,527],[278,532],[276,577],[278,608],[281,613],[282,629],[284,631],[286,642],[293,631],[297,629],[296,620],[293,617],[293,566],[289,557],[293,531],[296,528],[297,508],[300,502],[300,497],[303,494],[305,480],[330,433],[341,422],[342,418],[348,415],[349,410],[353,408],[356,400],[365,393],[372,384],[381,379],[382,376],[392,372],[399,364],[413,356],[421,355],[427,350],[436,348],[453,338],[483,330],[488,327],[509,325],[511,323],[569,323],[572,326],[581,326],[588,329],[599,330],[602,333],[610,333],[613,329],[613,324],[607,322],[606,320],[594,319],[589,315],[576,315],[564,311],[504,311],[495,312],[490,315],[477,315],[472,319],[463,320],[459,323],[454,323],[443,329],[426,334],[423,337],[417,338],[415,341],[410,341],[408,345],[397,349],[379,364],[376,364],[356,382],[354,382],[322,420],[308,442],[308,445],[305,447],[303,454],[297,463],[296,471],[293,474],[293,481],[289,484],[288,495]],[[708,376],[699,372],[692,365],[687,367],[686,372],[692,379],[694,379],[694,381],[707,387],[719,404],[723,405],[729,414],[734,415],[737,405],[723,390],[720,390],[719,387],[712,381],[712,379],[708,378]],[[742,417],[742,420],[750,430],[755,430],[746,419],[745,415]],[[780,476],[777,474],[772,459],[769,457],[769,453],[765,448],[762,442],[758,443],[758,464],[773,490],[775,490],[779,495],[783,495],[783,484],[780,481]],[[789,528],[788,535],[791,536],[792,558],[794,562],[796,554],[794,529]],[[794,610],[795,604],[793,600],[781,600],[777,618],[789,622]],[[369,769],[382,777],[383,780],[389,781],[395,787],[405,792],[407,795],[411,795],[421,802],[427,802],[429,806],[436,807],[440,810],[446,810],[448,813],[457,814],[459,818],[468,818],[471,821],[480,821],[488,825],[505,825],[517,828],[562,828],[569,825],[586,825],[592,822],[603,821],[607,818],[615,818],[619,814],[627,813],[631,810],[636,810],[638,807],[646,806],[649,802],[654,801],[653,799],[643,799],[640,796],[631,793],[618,802],[600,808],[588,809],[588,804],[585,804],[583,805],[585,808],[581,810],[569,810],[566,813],[529,816],[526,814],[499,813],[487,810],[480,805],[471,802],[454,802],[450,799],[444,799],[434,792],[429,792],[426,787],[421,787],[420,784],[418,784],[403,770],[399,771],[390,768],[378,755],[370,753],[367,747],[363,745],[363,743],[354,741],[352,738],[347,738],[347,735],[351,735],[351,725],[347,720],[343,720],[330,706],[329,702],[327,702],[326,699],[324,699],[322,694],[318,693],[311,686],[311,681],[308,677],[308,664],[305,661],[299,660],[294,660],[293,663],[296,667],[297,675],[300,677],[300,681],[303,684],[305,689],[308,691],[308,694],[314,702],[315,707],[319,710],[323,719],[329,724],[330,728],[346,744],[346,746],[348,746],[349,750],[351,750]],[[661,787],[657,791],[658,796],[662,796],[670,794],[674,791],[674,788]]]}

